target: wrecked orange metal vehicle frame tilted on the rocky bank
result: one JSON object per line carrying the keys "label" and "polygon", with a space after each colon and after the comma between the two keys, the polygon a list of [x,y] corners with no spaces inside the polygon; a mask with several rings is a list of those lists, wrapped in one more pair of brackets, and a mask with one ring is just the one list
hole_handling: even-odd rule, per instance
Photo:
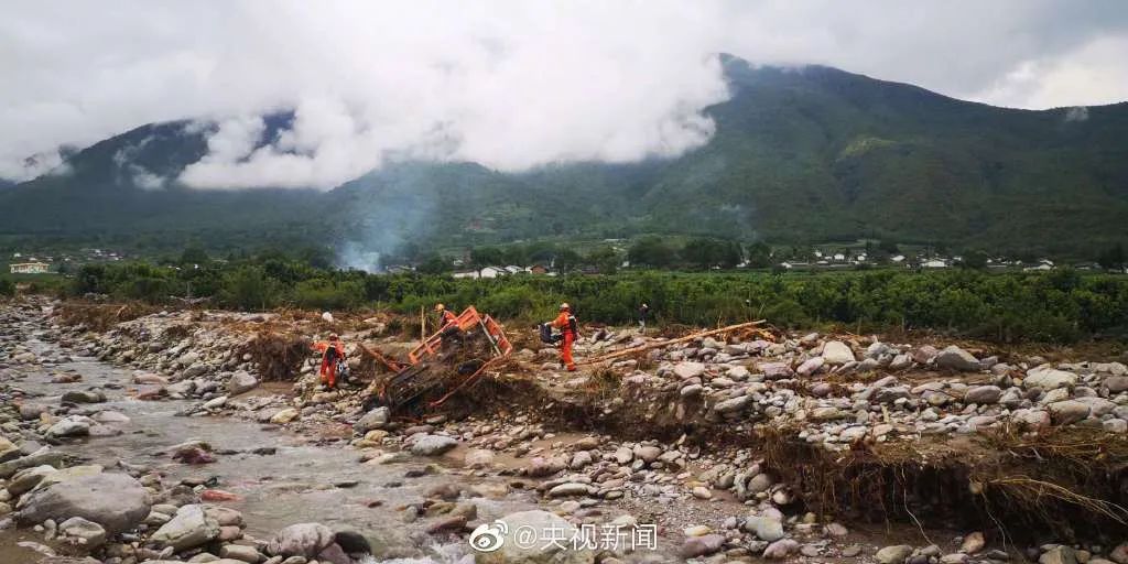
{"label": "wrecked orange metal vehicle frame tilted on the rocky bank", "polygon": [[[474,306],[412,349],[406,364],[368,346],[361,347],[395,372],[378,381],[365,407],[386,405],[393,411],[408,404],[438,407],[513,352],[502,325],[488,315],[479,314]],[[439,394],[440,397],[433,398]],[[426,402],[428,396],[433,399]]]}

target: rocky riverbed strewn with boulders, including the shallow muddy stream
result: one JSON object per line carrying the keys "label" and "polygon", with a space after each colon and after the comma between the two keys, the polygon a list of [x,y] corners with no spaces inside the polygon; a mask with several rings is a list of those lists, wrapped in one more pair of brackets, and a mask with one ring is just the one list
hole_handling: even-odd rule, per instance
{"label": "rocky riverbed strewn with boulders, including the shallow muddy stream", "polygon": [[[367,382],[319,390],[309,363],[293,364],[284,384],[261,381],[279,369],[247,343],[328,331],[316,320],[174,311],[94,332],[61,323],[56,306],[0,310],[0,429],[10,440],[0,443],[0,511],[20,526],[0,550],[23,539],[27,562],[37,549],[122,563],[1128,564],[1116,499],[1070,502],[1047,490],[1048,512],[1111,519],[1042,527],[1021,544],[1011,535],[1022,520],[976,521],[953,508],[1007,495],[1020,503],[1030,487],[1052,486],[1025,472],[1038,467],[1023,456],[1029,444],[1060,450],[1068,438],[1076,449],[1103,448],[1102,465],[1122,465],[1122,451],[1108,448],[1128,426],[1128,370],[1116,361],[758,333],[566,374],[554,350],[530,347],[490,387],[409,421],[362,408]],[[336,331],[349,343],[404,344],[377,320]],[[583,356],[656,342],[633,331],[587,334]],[[1014,442],[1001,449],[1004,439]],[[1046,452],[1049,467],[1057,451]],[[962,470],[913,478],[937,472],[929,457]],[[1031,482],[980,470],[970,457],[1022,468]],[[890,468],[919,483],[881,482]],[[865,481],[876,493],[820,495]],[[97,494],[107,491],[121,495]],[[866,506],[885,502],[896,503]],[[504,547],[469,550],[468,532],[499,518],[509,525]],[[565,531],[559,544],[587,543],[517,550],[513,536],[529,523]]]}

